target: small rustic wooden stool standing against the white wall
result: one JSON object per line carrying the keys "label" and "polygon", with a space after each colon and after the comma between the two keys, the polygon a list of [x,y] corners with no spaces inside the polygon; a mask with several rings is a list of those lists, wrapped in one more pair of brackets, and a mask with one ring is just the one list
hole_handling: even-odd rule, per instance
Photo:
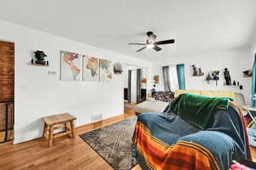
{"label": "small rustic wooden stool standing against the white wall", "polygon": [[[59,138],[61,136],[72,134],[72,137],[75,138],[75,128],[74,128],[73,121],[76,119],[77,118],[75,116],[72,116],[68,113],[44,117],[43,118],[44,120],[43,137],[48,140],[48,147],[52,146],[53,139]],[[68,127],[68,122],[70,123],[71,128]],[[61,128],[60,124],[65,125],[64,132],[54,134],[53,131],[55,129]],[[59,126],[55,127],[55,125],[59,125]],[[49,128],[49,133],[47,134],[48,128]]]}

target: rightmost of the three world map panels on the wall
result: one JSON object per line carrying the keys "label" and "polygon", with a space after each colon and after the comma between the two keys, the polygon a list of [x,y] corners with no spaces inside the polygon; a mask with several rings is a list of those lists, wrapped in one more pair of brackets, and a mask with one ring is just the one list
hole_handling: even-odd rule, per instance
{"label": "rightmost of the three world map panels on the wall", "polygon": [[113,81],[113,64],[107,59],[100,59],[100,82]]}

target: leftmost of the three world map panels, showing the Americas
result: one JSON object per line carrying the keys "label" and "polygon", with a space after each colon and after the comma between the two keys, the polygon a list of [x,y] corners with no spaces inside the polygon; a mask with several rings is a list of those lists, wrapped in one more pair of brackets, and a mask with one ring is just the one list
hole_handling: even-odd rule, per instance
{"label": "leftmost of the three world map panels, showing the Americas", "polygon": [[81,81],[81,65],[80,54],[61,51],[61,80]]}

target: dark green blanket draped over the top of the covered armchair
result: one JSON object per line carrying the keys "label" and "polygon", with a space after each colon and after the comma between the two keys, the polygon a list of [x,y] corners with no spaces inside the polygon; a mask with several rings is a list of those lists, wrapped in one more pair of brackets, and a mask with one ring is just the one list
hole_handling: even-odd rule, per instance
{"label": "dark green blanket draped over the top of the covered armchair", "polygon": [[228,109],[229,100],[232,99],[181,94],[172,100],[169,109],[185,121],[204,129],[217,109]]}

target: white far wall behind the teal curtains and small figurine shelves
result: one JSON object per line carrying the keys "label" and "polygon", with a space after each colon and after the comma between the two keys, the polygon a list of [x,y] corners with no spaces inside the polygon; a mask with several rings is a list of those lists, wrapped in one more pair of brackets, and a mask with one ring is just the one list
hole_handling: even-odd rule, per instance
{"label": "white far wall behind the teal curtains and small figurine shelves", "polygon": [[[242,74],[242,71],[250,69],[253,66],[249,49],[233,49],[210,54],[176,56],[170,58],[172,59],[154,65],[152,75],[160,75],[160,84],[156,85],[157,90],[164,90],[162,80],[163,65],[185,64],[186,89],[235,91],[245,95],[247,104],[251,103],[251,78],[243,77]],[[192,77],[193,70],[191,65],[193,64],[195,64],[197,68],[201,67],[202,71],[205,73],[204,77]],[[229,69],[232,80],[241,83],[243,86],[242,90],[237,86],[224,86],[224,68]],[[220,71],[218,86],[216,86],[215,81],[207,84],[206,77],[209,71]]]}

